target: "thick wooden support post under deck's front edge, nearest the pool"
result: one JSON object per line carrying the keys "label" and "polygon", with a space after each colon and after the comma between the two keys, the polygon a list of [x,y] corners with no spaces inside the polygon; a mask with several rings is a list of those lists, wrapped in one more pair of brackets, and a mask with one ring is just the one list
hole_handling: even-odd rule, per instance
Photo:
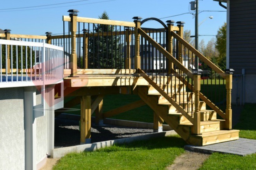
{"label": "thick wooden support post under deck's front edge, nearest the pool", "polygon": [[91,96],[81,97],[80,143],[91,143]]}

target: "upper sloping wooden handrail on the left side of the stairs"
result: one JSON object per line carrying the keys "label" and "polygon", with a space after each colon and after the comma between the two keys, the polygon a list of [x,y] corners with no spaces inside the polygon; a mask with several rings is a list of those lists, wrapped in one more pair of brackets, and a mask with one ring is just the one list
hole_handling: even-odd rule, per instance
{"label": "upper sloping wooden handrail on the left side of the stairs", "polygon": [[155,40],[148,36],[148,34],[143,31],[141,28],[138,29],[139,34],[145,38],[149,43],[151,43],[159,52],[161,52],[168,60],[175,64],[182,72],[188,75],[190,78],[193,78],[193,73],[183,66],[177,59],[175,59],[172,54],[166,51],[162,46],[160,46]]}

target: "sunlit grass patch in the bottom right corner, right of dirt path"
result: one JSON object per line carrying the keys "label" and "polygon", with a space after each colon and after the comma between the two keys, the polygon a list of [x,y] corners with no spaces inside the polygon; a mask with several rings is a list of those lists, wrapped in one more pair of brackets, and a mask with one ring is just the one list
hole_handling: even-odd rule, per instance
{"label": "sunlit grass patch in the bottom right corner, right of dirt path", "polygon": [[238,155],[213,153],[200,170],[255,170],[256,154],[241,157]]}

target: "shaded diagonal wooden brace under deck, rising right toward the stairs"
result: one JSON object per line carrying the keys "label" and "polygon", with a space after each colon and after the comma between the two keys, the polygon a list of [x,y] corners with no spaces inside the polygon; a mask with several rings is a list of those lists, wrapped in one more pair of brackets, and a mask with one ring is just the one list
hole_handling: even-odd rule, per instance
{"label": "shaded diagonal wooden brace under deck, rising right toward the stairs", "polygon": [[120,114],[120,113],[129,111],[129,110],[144,106],[145,104],[146,103],[143,100],[138,100],[136,102],[129,103],[129,104],[126,104],[125,106],[121,106],[119,108],[116,108],[116,109],[113,109],[113,110],[110,110],[110,111],[107,111],[107,112],[103,113],[103,118],[108,118],[108,117],[111,117],[111,116],[115,116],[117,114]]}

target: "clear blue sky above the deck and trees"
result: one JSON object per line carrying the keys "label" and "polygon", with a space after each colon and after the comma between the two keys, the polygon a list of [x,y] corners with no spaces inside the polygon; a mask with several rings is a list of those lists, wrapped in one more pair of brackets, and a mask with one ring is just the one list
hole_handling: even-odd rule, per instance
{"label": "clear blue sky above the deck and trees", "polygon": [[[190,10],[192,0],[12,0],[2,1],[0,7],[0,28],[11,29],[13,34],[45,35],[63,33],[62,16],[68,16],[69,9],[79,10],[79,17],[98,18],[103,11],[111,20],[130,21],[132,17],[143,19],[149,17],[184,21],[184,30],[191,30],[194,35],[194,12]],[[63,4],[57,4],[63,3]],[[52,5],[56,4],[56,5]],[[37,6],[37,7],[33,7]],[[27,8],[33,7],[33,8]],[[19,9],[11,9],[19,8]],[[212,11],[212,12],[208,12]],[[225,11],[225,12],[215,12]],[[218,29],[226,22],[226,9],[213,0],[199,0],[199,35],[216,35]],[[185,14],[183,14],[185,13]],[[179,15],[182,14],[182,15]],[[175,16],[179,15],[179,16]],[[170,17],[173,16],[173,17]],[[213,16],[213,19],[209,17]],[[156,21],[148,21],[143,27],[162,28]],[[214,36],[199,36],[207,43]]]}

